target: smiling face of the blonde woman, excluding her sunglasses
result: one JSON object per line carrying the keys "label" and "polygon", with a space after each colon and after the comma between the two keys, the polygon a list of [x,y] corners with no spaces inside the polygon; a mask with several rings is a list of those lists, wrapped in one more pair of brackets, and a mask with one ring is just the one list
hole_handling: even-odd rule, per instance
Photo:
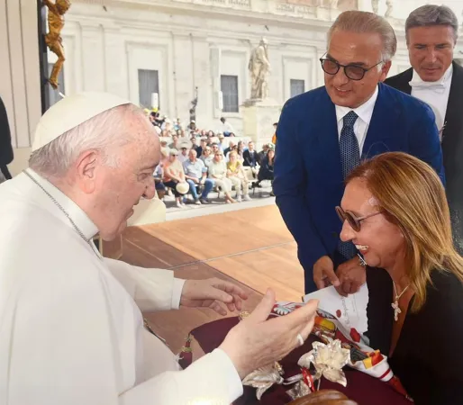
{"label": "smiling face of the blonde woman, excluding her sunglasses", "polygon": [[[344,211],[352,212],[356,217],[373,214],[378,210],[373,194],[368,190],[364,179],[354,179],[347,184],[340,202]],[[359,249],[368,266],[391,268],[396,257],[404,253],[404,236],[399,227],[383,214],[377,214],[360,221],[357,232],[346,220],[342,225],[340,239],[352,241]]]}

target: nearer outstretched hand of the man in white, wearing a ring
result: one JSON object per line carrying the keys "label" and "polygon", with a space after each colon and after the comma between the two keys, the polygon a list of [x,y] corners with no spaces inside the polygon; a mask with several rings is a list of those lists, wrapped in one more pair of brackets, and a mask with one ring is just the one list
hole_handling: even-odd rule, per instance
{"label": "nearer outstretched hand of the man in white, wearing a ring", "polygon": [[283,317],[268,320],[275,293],[268,290],[249,317],[235,326],[220,348],[232,359],[241,379],[252,371],[281,360],[305,341],[313,329],[317,300]]}

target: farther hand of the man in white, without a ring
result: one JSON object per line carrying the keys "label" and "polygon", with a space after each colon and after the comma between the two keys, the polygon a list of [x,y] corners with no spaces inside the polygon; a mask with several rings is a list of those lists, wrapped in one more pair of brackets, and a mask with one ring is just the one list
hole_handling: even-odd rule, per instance
{"label": "farther hand of the man in white, without a ring", "polygon": [[190,308],[211,308],[220,315],[226,315],[222,304],[229,311],[241,311],[242,300],[247,300],[248,295],[235,284],[219,278],[205,280],[186,280],[180,305]]}

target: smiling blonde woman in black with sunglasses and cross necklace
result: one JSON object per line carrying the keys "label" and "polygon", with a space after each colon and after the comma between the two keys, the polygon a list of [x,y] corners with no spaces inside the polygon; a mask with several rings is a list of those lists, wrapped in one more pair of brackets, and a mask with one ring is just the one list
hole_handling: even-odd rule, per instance
{"label": "smiling blonde woman in black with sunglasses and cross necklace", "polygon": [[436,172],[404,153],[347,178],[340,238],[367,262],[369,346],[389,356],[416,405],[463,401],[463,258]]}

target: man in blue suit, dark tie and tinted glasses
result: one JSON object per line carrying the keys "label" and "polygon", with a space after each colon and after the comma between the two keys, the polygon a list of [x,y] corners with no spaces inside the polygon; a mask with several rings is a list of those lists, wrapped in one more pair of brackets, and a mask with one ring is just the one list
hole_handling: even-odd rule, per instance
{"label": "man in blue suit, dark tie and tinted glasses", "polygon": [[321,58],[325,85],[288,100],[278,121],[273,189],[297,242],[305,293],[329,284],[354,293],[364,282],[358,250],[340,242],[334,210],[344,178],[360,159],[403,151],[430,164],[444,181],[431,108],[381,83],[395,50],[395,32],[384,18],[340,14]]}

